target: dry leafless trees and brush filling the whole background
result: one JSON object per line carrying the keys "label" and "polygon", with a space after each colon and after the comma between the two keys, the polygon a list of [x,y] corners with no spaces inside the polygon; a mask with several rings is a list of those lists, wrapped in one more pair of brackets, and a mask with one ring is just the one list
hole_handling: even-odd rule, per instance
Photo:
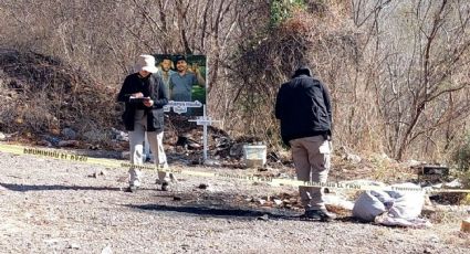
{"label": "dry leafless trees and brush filling the whole background", "polygon": [[185,53],[209,56],[208,106],[222,128],[272,148],[275,93],[299,63],[331,89],[337,145],[443,160],[464,140],[468,1],[268,2],[3,0],[0,130],[53,133],[75,120],[106,137],[135,56]]}

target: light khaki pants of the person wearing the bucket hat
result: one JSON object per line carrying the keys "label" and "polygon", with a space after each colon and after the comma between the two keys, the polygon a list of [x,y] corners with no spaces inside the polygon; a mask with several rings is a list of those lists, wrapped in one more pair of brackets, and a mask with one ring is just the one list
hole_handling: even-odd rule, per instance
{"label": "light khaki pants of the person wearing the bucket hat", "polygon": [[[129,131],[129,146],[130,146],[130,163],[144,163],[144,140],[147,133],[148,144],[155,157],[155,165],[159,167],[167,166],[165,150],[163,149],[164,131],[147,131],[147,116],[144,110],[136,110],[134,118],[134,130]],[[168,182],[170,176],[167,172],[158,171],[158,179],[160,182]],[[140,186],[143,173],[139,169],[129,169],[129,186]]]}

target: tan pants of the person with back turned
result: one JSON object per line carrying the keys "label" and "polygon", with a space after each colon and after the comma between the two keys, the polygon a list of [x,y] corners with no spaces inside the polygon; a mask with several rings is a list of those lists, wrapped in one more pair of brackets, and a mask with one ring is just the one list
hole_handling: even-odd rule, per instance
{"label": "tan pants of the person with back turned", "polygon": [[[297,180],[326,182],[330,171],[330,141],[323,136],[297,138],[290,141]],[[299,187],[305,210],[325,208],[323,188]]]}

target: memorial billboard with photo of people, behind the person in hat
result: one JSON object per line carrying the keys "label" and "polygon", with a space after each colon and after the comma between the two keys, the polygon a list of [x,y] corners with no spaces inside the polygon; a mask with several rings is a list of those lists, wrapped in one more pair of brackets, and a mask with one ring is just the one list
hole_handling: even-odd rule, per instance
{"label": "memorial billboard with photo of people, behind the person in hat", "polygon": [[206,104],[206,55],[154,54],[169,96],[166,112],[201,116]]}

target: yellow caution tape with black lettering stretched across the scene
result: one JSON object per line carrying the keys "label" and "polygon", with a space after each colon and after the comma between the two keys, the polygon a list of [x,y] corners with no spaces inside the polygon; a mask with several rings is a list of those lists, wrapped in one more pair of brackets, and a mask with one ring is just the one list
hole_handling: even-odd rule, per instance
{"label": "yellow caution tape with black lettering stretched across the scene", "polygon": [[226,179],[247,180],[252,182],[264,182],[264,183],[270,183],[273,186],[318,187],[318,188],[349,189],[349,190],[470,193],[470,190],[468,189],[424,189],[424,188],[408,188],[408,187],[394,187],[394,186],[380,187],[380,186],[358,184],[358,183],[299,181],[299,180],[281,179],[281,178],[272,178],[272,177],[260,177],[254,174],[247,176],[247,174],[224,173],[224,172],[203,172],[203,171],[185,170],[185,169],[161,169],[157,166],[132,165],[128,162],[119,162],[116,159],[92,158],[87,156],[75,155],[72,152],[64,152],[56,149],[39,149],[39,148],[30,148],[30,147],[3,145],[3,144],[0,144],[0,151],[14,154],[14,155],[33,155],[33,156],[40,156],[40,157],[49,157],[53,159],[69,160],[74,162],[100,165],[100,166],[109,167],[109,168],[134,167],[138,169],[158,170],[158,171],[194,176],[194,177],[226,178]]}

